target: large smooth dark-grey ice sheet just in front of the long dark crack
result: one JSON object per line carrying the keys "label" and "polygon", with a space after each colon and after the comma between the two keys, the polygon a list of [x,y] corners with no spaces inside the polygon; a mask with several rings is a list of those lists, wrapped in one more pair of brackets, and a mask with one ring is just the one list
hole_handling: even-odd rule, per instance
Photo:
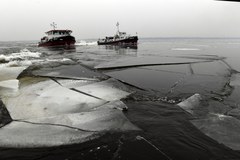
{"label": "large smooth dark-grey ice sheet just in front of the long dark crack", "polygon": [[[215,67],[218,69],[215,69]],[[206,71],[206,67],[213,68]],[[202,68],[202,69],[201,69]],[[230,72],[225,64],[214,61],[197,64],[160,65],[108,71],[105,74],[138,86],[157,90],[169,96],[220,91]]]}

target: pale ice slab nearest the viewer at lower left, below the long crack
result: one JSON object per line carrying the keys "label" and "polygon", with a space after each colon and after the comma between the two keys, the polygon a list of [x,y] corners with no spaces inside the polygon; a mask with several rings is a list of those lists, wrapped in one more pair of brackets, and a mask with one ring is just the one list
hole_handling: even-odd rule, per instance
{"label": "pale ice slab nearest the viewer at lower left, below the long crack", "polygon": [[[108,105],[114,106],[114,103]],[[69,145],[92,140],[105,132],[139,131],[139,128],[129,122],[122,111],[104,107],[91,112],[25,121],[31,123],[13,121],[1,129],[1,147]]]}

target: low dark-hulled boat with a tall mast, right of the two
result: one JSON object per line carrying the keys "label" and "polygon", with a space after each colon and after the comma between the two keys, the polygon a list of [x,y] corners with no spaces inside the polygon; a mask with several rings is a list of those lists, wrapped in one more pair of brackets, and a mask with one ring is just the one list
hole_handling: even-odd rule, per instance
{"label": "low dark-hulled boat with a tall mast, right of the two", "polygon": [[106,37],[97,41],[98,45],[137,45],[138,36],[127,35],[126,32],[119,31],[117,23],[117,33],[112,37]]}

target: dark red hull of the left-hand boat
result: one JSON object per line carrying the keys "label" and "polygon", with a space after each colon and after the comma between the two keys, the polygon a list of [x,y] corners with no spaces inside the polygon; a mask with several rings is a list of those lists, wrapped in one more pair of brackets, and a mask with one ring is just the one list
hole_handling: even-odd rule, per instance
{"label": "dark red hull of the left-hand boat", "polygon": [[74,46],[76,40],[73,36],[58,37],[47,42],[39,42],[38,47],[70,47]]}

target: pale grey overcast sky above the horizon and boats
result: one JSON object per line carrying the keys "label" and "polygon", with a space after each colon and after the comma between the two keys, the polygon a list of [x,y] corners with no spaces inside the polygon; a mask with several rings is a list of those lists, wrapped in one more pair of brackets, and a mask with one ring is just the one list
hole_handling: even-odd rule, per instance
{"label": "pale grey overcast sky above the horizon and boats", "polygon": [[139,37],[240,37],[240,3],[214,0],[0,0],[0,41],[39,40],[51,29],[76,39]]}

